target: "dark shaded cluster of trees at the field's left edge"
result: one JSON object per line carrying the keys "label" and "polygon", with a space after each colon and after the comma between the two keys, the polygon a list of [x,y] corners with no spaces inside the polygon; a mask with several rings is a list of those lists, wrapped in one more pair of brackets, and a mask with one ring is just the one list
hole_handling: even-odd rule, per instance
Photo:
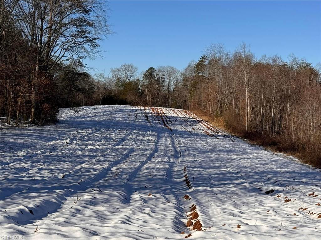
{"label": "dark shaded cluster of trees at the field's left edge", "polygon": [[[85,57],[111,33],[103,1],[0,1],[1,116],[34,124],[56,119],[65,101],[90,104]],[[73,94],[73,96],[68,96]]]}

